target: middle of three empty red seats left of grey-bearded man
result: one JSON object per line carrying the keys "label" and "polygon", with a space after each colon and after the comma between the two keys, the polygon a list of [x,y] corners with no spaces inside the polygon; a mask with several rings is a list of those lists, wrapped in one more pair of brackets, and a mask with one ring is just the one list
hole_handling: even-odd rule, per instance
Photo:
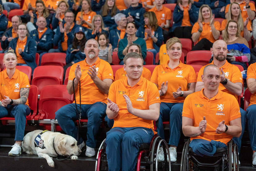
{"label": "middle of three empty red seats left of grey-bearded man", "polygon": [[31,84],[36,85],[39,92],[44,86],[62,84],[63,72],[62,66],[38,66],[34,70]]}

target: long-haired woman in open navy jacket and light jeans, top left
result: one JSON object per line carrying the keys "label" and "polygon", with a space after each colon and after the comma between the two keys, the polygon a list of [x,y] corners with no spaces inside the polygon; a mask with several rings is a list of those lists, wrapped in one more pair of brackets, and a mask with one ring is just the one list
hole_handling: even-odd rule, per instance
{"label": "long-haired woman in open navy jacket and light jeans, top left", "polygon": [[52,14],[49,13],[48,9],[45,7],[42,0],[36,0],[35,2],[35,12],[29,11],[30,22],[27,23],[28,31],[31,32],[38,28],[36,25],[37,19],[39,17],[43,17],[46,19],[46,27],[50,28],[50,24],[52,22]]}

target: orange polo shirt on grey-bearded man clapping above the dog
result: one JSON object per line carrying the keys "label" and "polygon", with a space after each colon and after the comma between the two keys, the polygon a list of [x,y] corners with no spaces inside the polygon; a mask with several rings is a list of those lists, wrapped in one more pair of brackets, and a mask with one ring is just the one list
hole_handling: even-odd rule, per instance
{"label": "orange polo shirt on grey-bearded man clapping above the dog", "polygon": [[[91,79],[90,75],[87,72],[89,72],[88,71],[89,67],[92,67],[95,65],[96,70],[97,70],[97,77],[99,77],[99,79],[114,80],[113,71],[112,71],[110,64],[108,62],[100,59],[99,57],[97,57],[97,60],[94,62],[93,65],[88,65],[86,63],[86,59],[83,61],[77,62],[71,66],[70,71],[69,71],[68,80],[73,80],[75,78],[75,70],[76,70],[77,64],[80,65],[81,72],[82,72],[82,76],[80,78],[80,81],[81,81],[81,104],[90,105],[90,104],[93,104],[93,103],[96,103],[99,101],[106,103],[108,95],[104,94],[103,92],[101,92],[99,90],[99,88],[95,85],[95,83],[93,82],[93,80]],[[77,99],[76,102],[78,104],[80,104],[79,103],[79,87],[77,87],[77,89],[75,90],[75,94],[76,94],[76,99]],[[75,103],[75,101],[73,101],[73,103]]]}

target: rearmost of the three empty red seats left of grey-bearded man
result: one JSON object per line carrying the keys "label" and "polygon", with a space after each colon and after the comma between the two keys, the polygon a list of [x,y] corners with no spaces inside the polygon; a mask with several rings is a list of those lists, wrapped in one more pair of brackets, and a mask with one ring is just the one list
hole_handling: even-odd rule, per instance
{"label": "rearmost of the three empty red seats left of grey-bearded man", "polygon": [[41,66],[44,65],[66,65],[66,53],[44,53],[41,59]]}

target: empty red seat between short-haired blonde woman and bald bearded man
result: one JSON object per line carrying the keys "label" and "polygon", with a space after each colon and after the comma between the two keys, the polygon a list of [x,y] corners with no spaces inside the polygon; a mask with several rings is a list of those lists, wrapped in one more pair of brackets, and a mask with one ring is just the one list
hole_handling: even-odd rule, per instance
{"label": "empty red seat between short-haired blonde woman and bald bearded man", "polygon": [[190,51],[187,54],[186,64],[196,64],[196,65],[207,65],[211,59],[211,51],[209,50],[195,50]]}

